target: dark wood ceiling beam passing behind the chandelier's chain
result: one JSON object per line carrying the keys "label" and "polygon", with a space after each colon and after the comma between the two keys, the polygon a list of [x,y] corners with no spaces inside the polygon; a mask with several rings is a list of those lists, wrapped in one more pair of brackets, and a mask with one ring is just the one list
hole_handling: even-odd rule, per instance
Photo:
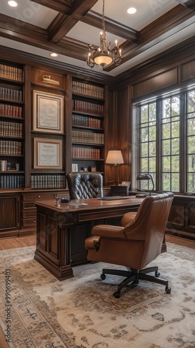
{"label": "dark wood ceiling beam passing behind the chandelier's chain", "polygon": [[[139,38],[139,31],[131,29],[128,26],[120,24],[108,17],[104,17],[104,19],[107,32],[120,36],[120,38],[124,38],[125,40],[129,41],[135,41]],[[96,13],[95,11],[88,11],[84,17],[81,17],[80,21],[91,26],[95,26],[98,29],[102,29],[102,15]]]}

